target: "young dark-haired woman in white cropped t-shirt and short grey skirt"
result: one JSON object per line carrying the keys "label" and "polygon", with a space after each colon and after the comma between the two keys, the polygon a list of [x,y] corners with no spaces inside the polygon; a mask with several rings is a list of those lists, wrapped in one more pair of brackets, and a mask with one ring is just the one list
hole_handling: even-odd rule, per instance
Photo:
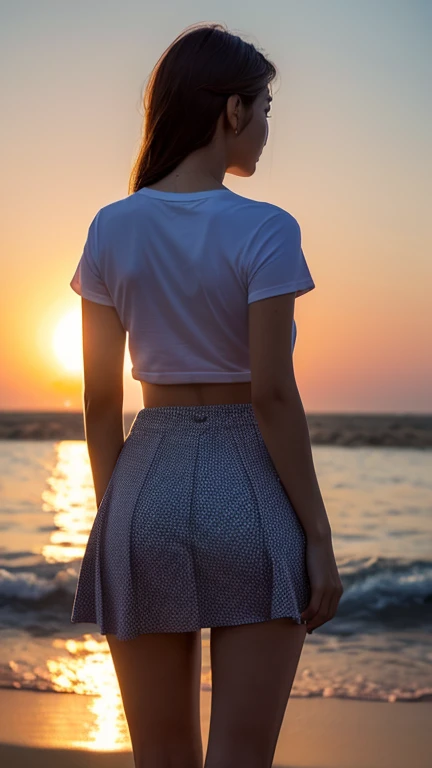
{"label": "young dark-haired woman in white cropped t-shirt and short grey skirt", "polygon": [[[98,507],[71,621],[106,635],[140,768],[202,768],[203,627],[205,768],[268,768],[306,632],[342,594],[293,371],[300,227],[223,184],[255,172],[275,75],[219,24],[174,40],[129,194],[71,281]],[[126,332],[145,407],[125,440]]]}

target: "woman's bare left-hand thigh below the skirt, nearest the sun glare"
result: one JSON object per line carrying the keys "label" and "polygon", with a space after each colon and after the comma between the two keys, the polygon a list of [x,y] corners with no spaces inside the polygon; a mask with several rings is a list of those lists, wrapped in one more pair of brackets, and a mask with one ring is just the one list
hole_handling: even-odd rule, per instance
{"label": "woman's bare left-hand thigh below the skirt, nearest the sun glare", "polygon": [[137,768],[202,768],[201,632],[106,638]]}

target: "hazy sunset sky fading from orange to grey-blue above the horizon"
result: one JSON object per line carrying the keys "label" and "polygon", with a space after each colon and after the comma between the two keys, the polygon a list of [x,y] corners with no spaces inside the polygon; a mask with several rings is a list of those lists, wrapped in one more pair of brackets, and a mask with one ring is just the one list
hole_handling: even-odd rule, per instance
{"label": "hazy sunset sky fading from orange to grey-blue above the horizon", "polygon": [[[432,3],[14,0],[1,17],[0,408],[81,408],[69,281],[88,226],[127,195],[157,58],[217,21],[280,72],[257,172],[225,183],[300,223],[316,283],[296,302],[305,410],[432,411]],[[130,367],[127,353],[135,411]]]}

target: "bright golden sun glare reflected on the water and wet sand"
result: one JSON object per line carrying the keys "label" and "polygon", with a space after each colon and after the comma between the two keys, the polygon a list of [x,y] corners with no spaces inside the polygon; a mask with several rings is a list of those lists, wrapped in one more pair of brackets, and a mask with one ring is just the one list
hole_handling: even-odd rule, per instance
{"label": "bright golden sun glare reflected on the water and wet sand", "polygon": [[[97,509],[88,450],[83,440],[56,444],[56,461],[42,493],[42,505],[52,512],[54,530],[41,551],[49,563],[70,563],[82,558]],[[63,574],[67,579],[69,569]],[[73,583],[75,583],[75,578]],[[108,643],[85,634],[56,638],[59,655],[47,659],[42,677],[50,689],[84,695],[85,728],[71,746],[118,751],[130,749],[130,737],[120,689]],[[81,730],[81,733],[80,733]]]}

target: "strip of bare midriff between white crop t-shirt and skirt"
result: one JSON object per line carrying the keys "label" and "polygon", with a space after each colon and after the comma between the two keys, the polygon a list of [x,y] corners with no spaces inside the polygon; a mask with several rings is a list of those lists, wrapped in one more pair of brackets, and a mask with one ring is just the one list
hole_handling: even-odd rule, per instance
{"label": "strip of bare midriff between white crop t-shirt and skirt", "polygon": [[150,384],[141,381],[141,387],[144,408],[251,402],[250,381],[226,384]]}

